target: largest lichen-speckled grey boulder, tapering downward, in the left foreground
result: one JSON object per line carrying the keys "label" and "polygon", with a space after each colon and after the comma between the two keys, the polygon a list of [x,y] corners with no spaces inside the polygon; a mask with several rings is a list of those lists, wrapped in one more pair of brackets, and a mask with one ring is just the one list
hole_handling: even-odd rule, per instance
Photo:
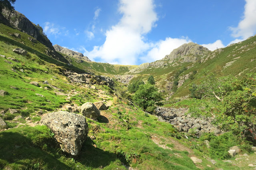
{"label": "largest lichen-speckled grey boulder, tapering downward, in the left foreground", "polygon": [[79,154],[88,134],[84,116],[64,111],[44,115],[40,125],[50,128],[62,150],[72,155]]}

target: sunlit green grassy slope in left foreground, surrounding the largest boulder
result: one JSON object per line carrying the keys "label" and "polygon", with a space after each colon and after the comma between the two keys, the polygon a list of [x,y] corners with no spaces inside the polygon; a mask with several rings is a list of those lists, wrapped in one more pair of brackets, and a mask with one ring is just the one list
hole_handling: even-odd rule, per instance
{"label": "sunlit green grassy slope in left foreground, surrounding the largest boulder", "polygon": [[[47,113],[60,110],[65,103],[82,105],[88,101],[102,100],[102,97],[96,90],[71,85],[60,72],[68,66],[46,56],[42,44],[32,45],[27,34],[2,24],[0,29],[0,54],[6,55],[5,58],[0,57],[0,88],[9,93],[4,97],[0,96],[0,110],[7,111],[5,115],[0,116],[6,121],[7,128],[10,128],[0,132],[1,169],[125,169],[124,164],[137,169],[238,169],[234,166],[229,167],[230,164],[219,160],[216,165],[212,165],[204,158],[207,153],[190,147],[190,142],[194,140],[192,137],[186,139],[183,134],[177,133],[172,125],[161,123],[153,115],[145,114],[118,99],[115,100],[105,86],[97,88],[106,91],[105,94],[114,104],[108,111],[101,112],[102,117],[99,121],[87,119],[88,135],[94,135],[96,139],[88,137],[78,157],[66,155],[55,144],[48,128],[28,127],[24,119],[12,119],[18,115],[36,116],[32,118],[35,122],[40,120],[40,116],[36,115],[38,110]],[[13,32],[20,33],[21,40],[8,36],[8,33]],[[29,55],[24,57],[13,53],[12,49],[16,47],[28,50]],[[16,58],[20,62],[16,63],[6,59],[7,57]],[[4,60],[13,64],[8,64]],[[12,71],[12,68],[17,73]],[[77,67],[71,69],[82,72]],[[50,80],[52,76],[56,76],[57,79]],[[79,93],[67,100],[66,96],[57,96],[54,93],[55,89],[42,84],[45,80],[62,89],[64,93],[69,93],[72,89]],[[30,81],[38,81],[42,88],[30,85]],[[12,89],[11,86],[18,89]],[[40,93],[44,97],[39,97],[35,93]],[[18,109],[20,113],[10,114],[9,108]],[[174,138],[175,136],[180,139]],[[190,156],[202,159],[202,164],[193,164]],[[209,164],[211,167],[207,166]]]}

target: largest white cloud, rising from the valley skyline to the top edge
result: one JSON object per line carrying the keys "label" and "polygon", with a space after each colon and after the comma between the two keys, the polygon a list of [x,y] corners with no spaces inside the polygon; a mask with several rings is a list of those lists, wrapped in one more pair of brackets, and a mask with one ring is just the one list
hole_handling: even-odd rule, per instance
{"label": "largest white cloud, rising from the valley skyline to the top edge", "polygon": [[101,62],[136,64],[138,56],[150,48],[144,35],[158,20],[153,0],[120,0],[118,10],[123,16],[106,31],[104,44],[84,55]]}

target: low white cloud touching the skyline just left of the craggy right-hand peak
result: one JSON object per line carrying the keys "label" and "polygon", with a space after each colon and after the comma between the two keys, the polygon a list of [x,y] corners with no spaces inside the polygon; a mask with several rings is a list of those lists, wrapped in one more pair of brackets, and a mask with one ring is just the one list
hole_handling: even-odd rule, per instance
{"label": "low white cloud touching the skyline just left of the craggy right-hand peak", "polygon": [[184,43],[189,43],[191,40],[186,38],[166,38],[152,44],[152,49],[148,52],[146,57],[142,58],[143,61],[151,62],[164,58],[165,55],[170,54],[172,50],[178,48]]}

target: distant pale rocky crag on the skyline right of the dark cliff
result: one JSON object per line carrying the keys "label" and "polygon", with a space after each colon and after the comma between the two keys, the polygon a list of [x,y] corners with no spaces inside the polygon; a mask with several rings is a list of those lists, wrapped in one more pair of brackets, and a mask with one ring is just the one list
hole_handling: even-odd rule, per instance
{"label": "distant pale rocky crag on the skyline right of the dark cliff", "polygon": [[53,45],[53,47],[56,51],[66,54],[66,55],[72,55],[72,57],[74,57],[76,59],[80,59],[82,61],[87,61],[87,62],[91,61],[90,59],[88,59],[88,57],[84,56],[82,53],[72,51],[71,49],[64,48],[58,44]]}

